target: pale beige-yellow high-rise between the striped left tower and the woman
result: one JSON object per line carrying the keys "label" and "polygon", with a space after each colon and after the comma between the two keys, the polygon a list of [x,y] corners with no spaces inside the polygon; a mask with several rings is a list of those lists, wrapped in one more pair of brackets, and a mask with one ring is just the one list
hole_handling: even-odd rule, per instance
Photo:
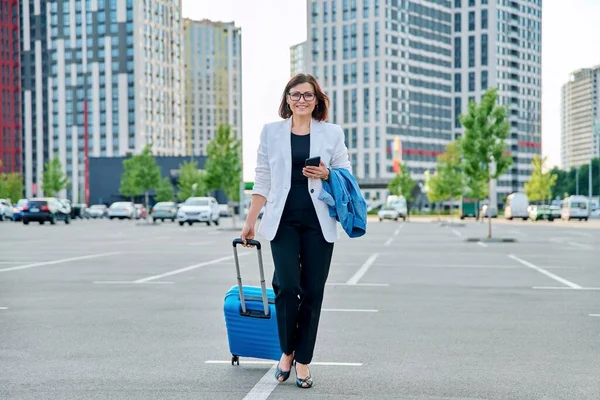
{"label": "pale beige-yellow high-rise between the striped left tower and the woman", "polygon": [[206,155],[221,124],[242,138],[242,35],[232,22],[184,20],[187,155]]}

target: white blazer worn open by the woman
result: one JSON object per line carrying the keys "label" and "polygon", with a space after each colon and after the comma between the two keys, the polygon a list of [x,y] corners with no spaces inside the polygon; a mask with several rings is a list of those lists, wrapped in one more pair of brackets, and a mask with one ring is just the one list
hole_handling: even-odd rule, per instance
{"label": "white blazer worn open by the woman", "polygon": [[[279,228],[281,214],[290,191],[292,179],[292,119],[272,122],[263,127],[258,146],[256,176],[252,194],[267,199],[258,234],[273,240]],[[310,157],[320,156],[328,168],[345,168],[352,172],[344,132],[339,125],[311,121]],[[329,208],[319,200],[323,183],[308,179],[308,192],[312,198],[325,240],[333,243],[339,238],[338,224],[329,216]]]}

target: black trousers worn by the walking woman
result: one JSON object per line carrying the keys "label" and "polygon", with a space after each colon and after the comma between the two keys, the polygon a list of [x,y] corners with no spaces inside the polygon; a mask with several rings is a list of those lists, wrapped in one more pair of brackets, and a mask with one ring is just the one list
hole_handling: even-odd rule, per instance
{"label": "black trousers worn by the walking woman", "polygon": [[313,207],[293,212],[285,210],[271,241],[271,252],[281,351],[288,355],[295,351],[297,362],[309,364],[317,338],[333,243],[323,237]]}

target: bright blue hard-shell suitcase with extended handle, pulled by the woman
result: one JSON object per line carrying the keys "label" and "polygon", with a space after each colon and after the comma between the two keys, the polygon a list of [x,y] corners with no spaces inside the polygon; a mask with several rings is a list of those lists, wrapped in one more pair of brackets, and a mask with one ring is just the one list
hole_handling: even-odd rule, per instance
{"label": "bright blue hard-shell suitcase with extended handle, pulled by the woman", "polygon": [[260,286],[242,285],[237,245],[241,239],[233,241],[233,255],[237,271],[237,285],[232,286],[225,295],[223,313],[231,351],[231,364],[240,365],[240,357],[279,360],[281,346],[277,332],[275,314],[275,293],[265,286],[265,273],[262,262],[260,242],[248,240],[258,251]]}

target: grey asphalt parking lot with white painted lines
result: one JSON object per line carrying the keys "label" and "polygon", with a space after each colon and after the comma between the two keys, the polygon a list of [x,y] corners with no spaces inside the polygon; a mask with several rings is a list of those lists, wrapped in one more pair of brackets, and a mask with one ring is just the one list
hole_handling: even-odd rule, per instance
{"label": "grey asphalt parking lot with white painted lines", "polygon": [[[516,243],[467,242],[475,222],[343,234],[310,390],[230,363],[230,226],[0,223],[0,398],[600,398],[598,221],[494,221]],[[255,253],[240,249],[245,284]]]}

